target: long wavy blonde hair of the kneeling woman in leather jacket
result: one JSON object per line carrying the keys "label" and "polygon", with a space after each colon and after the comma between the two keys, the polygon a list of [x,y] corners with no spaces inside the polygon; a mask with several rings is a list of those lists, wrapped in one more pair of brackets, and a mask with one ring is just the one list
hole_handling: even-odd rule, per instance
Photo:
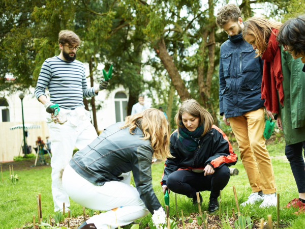
{"label": "long wavy blonde hair of the kneeling woman in leather jacket", "polygon": [[156,108],[143,110],[133,116],[126,117],[124,129],[129,127],[129,132],[133,133],[136,127],[143,132],[143,140],[149,139],[151,147],[154,149],[153,157],[164,159],[172,157],[169,152],[169,129],[164,113]]}

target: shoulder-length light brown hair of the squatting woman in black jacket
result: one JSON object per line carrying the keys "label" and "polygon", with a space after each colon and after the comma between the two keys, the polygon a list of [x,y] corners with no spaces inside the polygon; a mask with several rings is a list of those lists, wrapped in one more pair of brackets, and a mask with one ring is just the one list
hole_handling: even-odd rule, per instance
{"label": "shoulder-length light brown hair of the squatting woman in black jacket", "polygon": [[175,122],[178,127],[185,127],[184,125],[181,125],[182,114],[185,112],[189,113],[191,116],[200,118],[199,126],[204,123],[204,131],[202,136],[206,134],[206,132],[210,131],[214,123],[213,117],[195,99],[187,99],[182,102],[178,112],[175,115]]}

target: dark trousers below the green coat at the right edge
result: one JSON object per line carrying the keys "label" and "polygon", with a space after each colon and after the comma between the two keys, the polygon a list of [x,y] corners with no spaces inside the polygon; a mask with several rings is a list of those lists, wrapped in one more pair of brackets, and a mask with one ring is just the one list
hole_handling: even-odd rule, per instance
{"label": "dark trousers below the green coat at the right edge", "polygon": [[285,146],[285,155],[289,160],[299,193],[305,192],[305,163],[302,155],[303,149],[305,150],[305,141]]}

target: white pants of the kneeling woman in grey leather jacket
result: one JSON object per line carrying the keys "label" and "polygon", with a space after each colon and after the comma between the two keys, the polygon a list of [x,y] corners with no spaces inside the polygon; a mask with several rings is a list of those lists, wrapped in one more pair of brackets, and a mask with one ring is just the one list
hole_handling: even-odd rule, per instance
{"label": "white pants of the kneeling woman in grey leather jacket", "polygon": [[67,165],[63,174],[63,186],[77,204],[107,211],[89,218],[86,221],[88,224],[94,223],[98,229],[114,229],[118,225],[130,224],[149,213],[137,189],[130,185],[131,173],[125,175],[126,178],[120,182],[109,181],[97,186]]}

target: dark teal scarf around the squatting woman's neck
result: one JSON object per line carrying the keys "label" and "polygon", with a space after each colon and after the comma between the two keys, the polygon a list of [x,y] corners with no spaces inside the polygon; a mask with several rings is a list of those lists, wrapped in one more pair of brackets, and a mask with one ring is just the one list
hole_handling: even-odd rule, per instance
{"label": "dark teal scarf around the squatting woman's neck", "polygon": [[[180,125],[184,126],[182,123]],[[186,127],[178,127],[178,138],[188,151],[194,151],[199,145],[203,130],[203,124],[198,126],[193,132],[189,131]]]}

